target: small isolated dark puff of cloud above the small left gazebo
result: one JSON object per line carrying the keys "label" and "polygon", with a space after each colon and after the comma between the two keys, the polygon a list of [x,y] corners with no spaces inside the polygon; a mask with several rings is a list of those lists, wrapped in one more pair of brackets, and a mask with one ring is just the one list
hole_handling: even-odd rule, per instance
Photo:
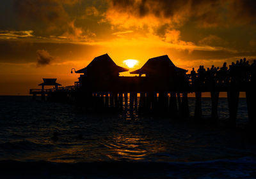
{"label": "small isolated dark puff of cloud above the small left gazebo", "polygon": [[36,57],[37,67],[47,66],[56,59],[56,57],[51,56],[46,50],[37,50],[36,54],[37,54],[37,57]]}

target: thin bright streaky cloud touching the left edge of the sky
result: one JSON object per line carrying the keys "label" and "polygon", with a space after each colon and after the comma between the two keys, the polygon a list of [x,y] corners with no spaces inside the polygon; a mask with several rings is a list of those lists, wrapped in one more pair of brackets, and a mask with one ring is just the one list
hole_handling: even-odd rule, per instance
{"label": "thin bright streaky cloud touching the left edge of the sky", "polygon": [[17,39],[33,37],[33,31],[0,31],[0,39]]}

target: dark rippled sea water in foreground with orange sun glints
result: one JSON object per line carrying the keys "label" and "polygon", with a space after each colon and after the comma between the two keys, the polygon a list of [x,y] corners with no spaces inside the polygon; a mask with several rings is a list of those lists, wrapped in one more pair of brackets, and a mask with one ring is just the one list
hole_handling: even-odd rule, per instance
{"label": "dark rippled sea water in foreground with orange sun glints", "polygon": [[[195,124],[0,96],[0,178],[256,178],[255,138],[225,127],[225,98],[223,122],[207,122],[210,103],[203,98],[205,119]],[[237,127],[246,112],[240,99]]]}

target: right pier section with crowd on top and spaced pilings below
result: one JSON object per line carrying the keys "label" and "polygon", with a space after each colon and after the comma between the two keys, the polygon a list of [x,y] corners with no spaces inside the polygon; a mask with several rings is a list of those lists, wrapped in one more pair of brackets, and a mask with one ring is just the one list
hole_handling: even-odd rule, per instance
{"label": "right pier section with crowd on top and spaced pilings below", "polygon": [[[240,59],[236,64],[232,62],[227,68],[227,63],[224,62],[221,68],[216,68],[212,65],[211,69],[205,71],[204,66],[200,66],[198,73],[194,69],[189,75],[191,77],[192,91],[196,94],[195,117],[201,118],[201,98],[202,92],[211,92],[212,102],[212,118],[218,118],[218,97],[219,93],[227,92],[228,110],[230,120],[236,124],[237,106],[239,92],[246,92],[248,105],[248,117],[250,123],[255,124],[256,116],[252,112],[252,106],[255,105],[255,61],[250,66],[246,59]],[[254,92],[253,92],[254,91]]]}

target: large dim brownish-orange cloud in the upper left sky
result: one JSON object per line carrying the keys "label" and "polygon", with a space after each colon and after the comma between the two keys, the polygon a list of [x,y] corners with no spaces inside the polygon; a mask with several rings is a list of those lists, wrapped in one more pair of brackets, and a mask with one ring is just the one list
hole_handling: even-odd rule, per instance
{"label": "large dim brownish-orange cloud in the upper left sky", "polygon": [[84,20],[83,17],[86,15],[97,16],[99,11],[94,6],[87,7],[82,3],[83,0],[13,1],[20,25],[33,27],[37,37],[65,42],[92,41],[95,37],[90,28],[84,27],[81,19]]}

